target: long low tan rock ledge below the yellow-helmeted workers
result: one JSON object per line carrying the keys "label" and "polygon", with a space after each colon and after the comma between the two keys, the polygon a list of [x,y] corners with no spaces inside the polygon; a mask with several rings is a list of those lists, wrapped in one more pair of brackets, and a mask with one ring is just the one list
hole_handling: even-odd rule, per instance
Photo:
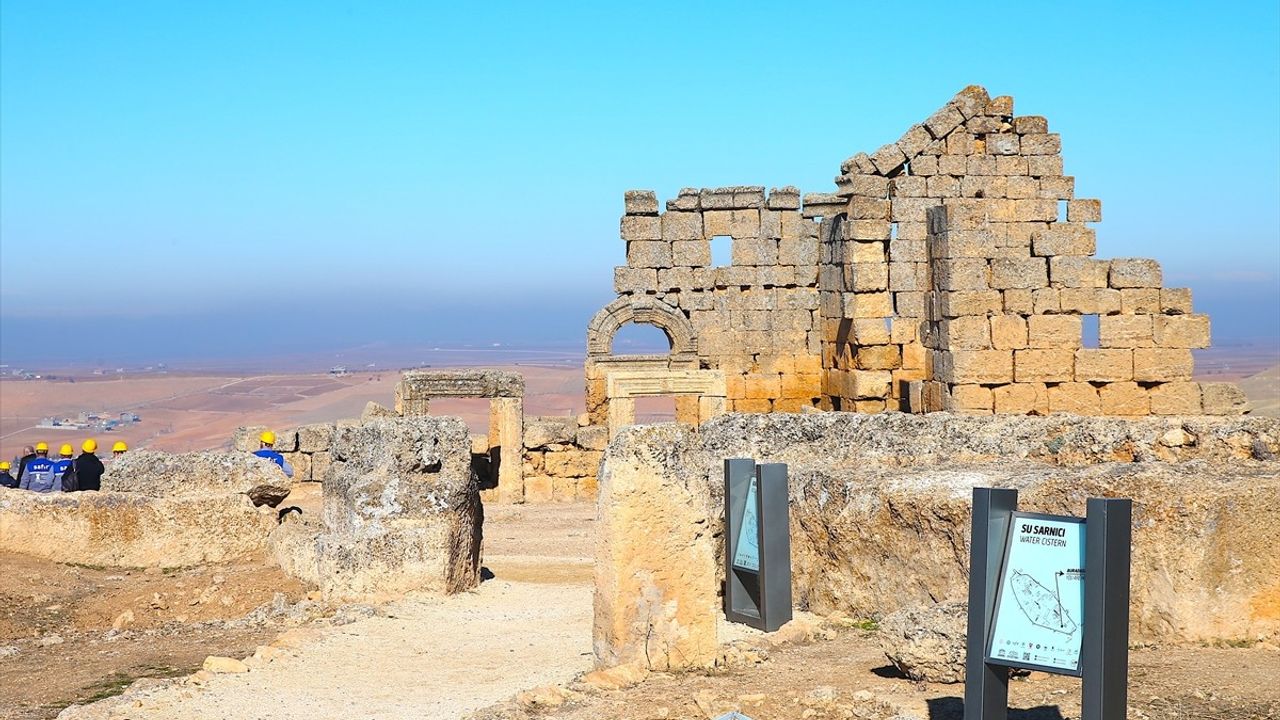
{"label": "long low tan rock ledge below the yellow-helmeted workers", "polygon": [[[134,452],[142,451],[133,451]],[[180,568],[260,555],[275,511],[234,493],[33,493],[0,488],[0,551],[108,568]]]}

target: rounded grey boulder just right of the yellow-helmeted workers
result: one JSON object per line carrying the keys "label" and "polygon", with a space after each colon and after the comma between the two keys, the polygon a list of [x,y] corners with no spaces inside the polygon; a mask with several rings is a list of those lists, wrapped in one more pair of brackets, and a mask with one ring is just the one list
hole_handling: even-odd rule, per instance
{"label": "rounded grey boulder just right of the yellow-helmeted workers", "polygon": [[147,497],[246,495],[253,505],[275,507],[292,480],[280,468],[243,451],[159,452],[134,450],[111,461],[102,489]]}

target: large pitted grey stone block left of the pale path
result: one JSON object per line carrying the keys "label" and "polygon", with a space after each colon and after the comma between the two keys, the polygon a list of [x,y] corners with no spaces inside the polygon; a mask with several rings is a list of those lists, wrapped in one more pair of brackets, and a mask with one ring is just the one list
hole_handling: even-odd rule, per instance
{"label": "large pitted grey stone block left of the pale path", "polygon": [[324,533],[315,541],[326,597],[479,584],[481,509],[470,447],[457,418],[378,418],[337,429]]}

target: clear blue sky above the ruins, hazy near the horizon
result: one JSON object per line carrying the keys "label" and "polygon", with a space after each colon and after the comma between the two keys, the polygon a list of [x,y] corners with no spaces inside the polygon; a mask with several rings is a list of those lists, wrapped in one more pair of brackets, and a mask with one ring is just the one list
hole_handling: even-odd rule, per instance
{"label": "clear blue sky above the ruins, hazy near the horizon", "polygon": [[5,0],[0,360],[581,342],[626,188],[829,191],[970,83],[1062,133],[1100,256],[1280,337],[1277,6]]}

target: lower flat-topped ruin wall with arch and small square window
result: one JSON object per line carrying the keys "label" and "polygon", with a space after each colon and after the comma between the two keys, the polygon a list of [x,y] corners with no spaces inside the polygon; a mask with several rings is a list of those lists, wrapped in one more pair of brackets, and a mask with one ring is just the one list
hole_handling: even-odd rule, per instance
{"label": "lower flat-topped ruin wall with arch and small square window", "polygon": [[[728,410],[799,411],[820,404],[818,233],[819,218],[835,208],[823,201],[836,200],[806,196],[801,205],[794,187],[768,193],[746,186],[685,188],[659,211],[653,192],[627,192],[621,223],[627,263],[613,274],[620,309],[626,314],[630,301],[640,300],[678,313],[696,338],[694,363],[678,366],[723,370]],[[730,243],[728,265],[713,265],[713,238]],[[668,329],[675,323],[658,318],[654,324]],[[596,334],[607,336],[608,354],[612,332]],[[681,351],[677,340],[673,350]],[[589,338],[589,352],[590,346]],[[607,420],[603,370],[589,359],[588,410],[595,424]],[[685,404],[685,415],[695,419],[696,397]]]}

